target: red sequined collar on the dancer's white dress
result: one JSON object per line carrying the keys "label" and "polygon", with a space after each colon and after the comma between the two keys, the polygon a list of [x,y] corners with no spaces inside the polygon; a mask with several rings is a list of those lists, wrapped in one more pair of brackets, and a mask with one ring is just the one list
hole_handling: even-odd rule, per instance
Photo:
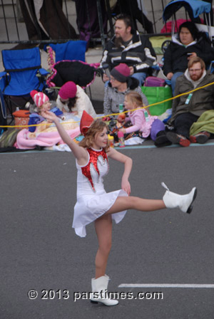
{"label": "red sequined collar on the dancer's white dress", "polygon": [[97,150],[88,148],[87,151],[89,153],[90,158],[89,158],[88,164],[84,167],[81,167],[81,169],[82,169],[83,175],[88,179],[88,181],[91,183],[92,189],[95,191],[93,186],[92,176],[91,176],[91,169],[90,169],[91,163],[93,164],[93,167],[96,169],[98,176],[100,176],[100,172],[97,167],[98,156],[102,156],[103,160],[107,160],[107,162],[108,162],[108,157],[106,155],[106,152],[103,149],[97,151]]}

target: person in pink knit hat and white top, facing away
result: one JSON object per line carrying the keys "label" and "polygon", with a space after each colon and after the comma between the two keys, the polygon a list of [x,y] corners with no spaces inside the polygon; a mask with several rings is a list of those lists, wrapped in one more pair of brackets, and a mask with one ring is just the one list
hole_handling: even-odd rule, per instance
{"label": "person in pink knit hat and white top, facing away", "polygon": [[96,117],[96,112],[88,95],[73,81],[66,82],[58,91],[56,105],[63,112],[72,112],[78,117],[82,116],[83,110],[93,118]]}

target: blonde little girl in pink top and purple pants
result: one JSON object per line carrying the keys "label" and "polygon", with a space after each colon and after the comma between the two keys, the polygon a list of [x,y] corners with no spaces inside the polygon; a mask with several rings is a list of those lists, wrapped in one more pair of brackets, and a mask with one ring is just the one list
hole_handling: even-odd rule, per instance
{"label": "blonde little girl in pink top and purple pants", "polygon": [[148,114],[146,108],[142,108],[144,105],[139,93],[135,91],[126,93],[124,105],[126,110],[136,109],[135,111],[128,112],[126,122],[131,120],[132,126],[121,128],[120,130],[124,134],[139,132],[144,138],[150,135],[152,140],[156,140],[158,132],[165,130],[165,125],[158,119],[158,116],[151,116]]}

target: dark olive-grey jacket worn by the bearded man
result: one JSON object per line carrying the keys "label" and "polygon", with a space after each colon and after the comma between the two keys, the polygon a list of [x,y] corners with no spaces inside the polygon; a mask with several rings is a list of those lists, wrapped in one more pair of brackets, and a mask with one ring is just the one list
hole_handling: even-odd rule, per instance
{"label": "dark olive-grey jacket worn by the bearded man", "polygon": [[[214,75],[210,74],[209,71],[207,71],[205,77],[196,86],[196,88],[200,88],[208,83],[214,83]],[[177,78],[175,85],[175,96],[181,93],[187,93],[193,89],[193,83],[191,83],[190,80],[186,78],[185,74],[180,75]],[[188,104],[185,104],[187,98],[188,94],[182,95],[180,96],[180,98],[175,98],[175,100],[173,100],[173,114],[168,121],[169,124],[171,124],[175,120],[175,117],[177,117],[178,114],[181,113],[192,113],[194,115],[200,116],[207,110],[213,110],[214,84],[193,92],[193,96],[190,98],[190,102]]]}

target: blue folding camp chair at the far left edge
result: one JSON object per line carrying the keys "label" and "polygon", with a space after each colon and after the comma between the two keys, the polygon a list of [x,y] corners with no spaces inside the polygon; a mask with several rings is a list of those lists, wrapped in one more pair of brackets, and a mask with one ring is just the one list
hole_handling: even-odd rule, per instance
{"label": "blue folding camp chair at the far left edge", "polygon": [[[23,97],[26,103],[31,98],[29,95],[31,90],[41,91],[44,89],[44,76],[48,72],[41,68],[41,56],[38,47],[24,50],[2,50],[1,54],[5,70],[0,73],[0,88],[4,95],[6,107],[12,115],[11,98]],[[14,104],[16,105],[16,103]]]}

